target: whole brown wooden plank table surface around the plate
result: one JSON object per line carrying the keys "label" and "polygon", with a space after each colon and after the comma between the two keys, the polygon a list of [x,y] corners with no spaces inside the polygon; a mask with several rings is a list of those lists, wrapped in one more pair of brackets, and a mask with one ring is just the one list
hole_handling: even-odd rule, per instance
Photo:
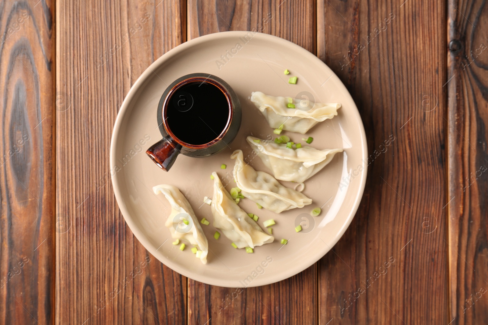
{"label": "whole brown wooden plank table surface around the plate", "polygon": [[[2,324],[488,323],[486,1],[0,8]],[[361,206],[332,251],[226,305],[235,289],[173,272],[135,239],[111,187],[109,146],[124,96],[156,58],[253,28],[332,68],[372,156]]]}

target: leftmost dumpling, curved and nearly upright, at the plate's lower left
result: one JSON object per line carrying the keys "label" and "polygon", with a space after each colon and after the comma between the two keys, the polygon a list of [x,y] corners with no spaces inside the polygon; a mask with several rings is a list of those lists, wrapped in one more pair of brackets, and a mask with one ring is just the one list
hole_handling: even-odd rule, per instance
{"label": "leftmost dumpling, curved and nearly upright, at the plate's lower left", "polygon": [[[186,197],[172,185],[157,185],[153,187],[153,191],[156,194],[163,193],[171,205],[171,213],[164,223],[164,226],[169,229],[171,237],[185,239],[196,246],[202,251],[199,253],[200,260],[203,264],[207,264],[207,238]],[[184,223],[183,219],[188,222],[188,225]]]}

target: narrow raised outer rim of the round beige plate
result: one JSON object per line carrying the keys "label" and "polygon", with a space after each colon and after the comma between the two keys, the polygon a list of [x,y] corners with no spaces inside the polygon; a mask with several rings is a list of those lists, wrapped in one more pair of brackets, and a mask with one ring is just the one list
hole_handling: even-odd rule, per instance
{"label": "narrow raised outer rim of the round beige plate", "polygon": [[[121,124],[122,124],[123,117],[127,114],[129,103],[134,99],[134,96],[138,93],[142,84],[147,80],[148,76],[150,76],[157,68],[159,68],[159,66],[162,65],[164,61],[166,61],[172,57],[177,56],[179,53],[186,51],[188,48],[191,48],[191,47],[194,47],[200,43],[212,41],[212,40],[218,39],[218,38],[233,37],[234,35],[242,36],[242,33],[254,33],[254,32],[253,31],[225,31],[225,32],[217,32],[217,33],[207,34],[204,36],[200,36],[198,38],[190,39],[190,40],[172,48],[168,52],[164,53],[161,57],[157,58],[153,63],[151,63],[144,70],[144,72],[142,72],[141,76],[139,76],[137,78],[137,80],[134,82],[134,84],[130,87],[129,91],[127,92],[127,95],[125,96],[125,98],[122,101],[122,104],[121,104],[119,111],[117,112],[117,117],[115,119],[114,127],[113,127],[112,134],[111,134],[112,137],[110,139],[110,163],[109,163],[110,171],[112,171],[112,169],[115,166],[116,148],[117,148],[119,141],[120,141],[119,138],[116,137],[116,135],[120,134],[120,132],[121,132],[121,128],[122,128]],[[334,71],[332,69],[330,69],[330,67],[328,65],[326,65],[325,62],[323,62],[315,54],[309,52],[305,48],[303,48],[300,45],[295,44],[289,40],[286,40],[284,38],[280,38],[278,36],[270,35],[270,34],[260,33],[260,32],[255,32],[255,34],[253,35],[253,38],[269,39],[272,42],[282,43],[287,47],[292,47],[297,52],[302,52],[304,54],[304,56],[307,57],[307,59],[308,59],[308,57],[310,57],[310,60],[314,61],[313,62],[314,64],[325,65],[325,67],[327,67],[327,69],[332,73],[332,75],[337,77],[337,79],[339,80],[339,83],[340,83],[340,84],[338,84],[338,87],[342,87],[344,89],[344,91],[347,94],[349,94],[349,96],[351,97],[351,100],[354,104],[354,107],[351,107],[351,112],[353,112],[353,114],[356,115],[358,121],[360,122],[359,123],[360,124],[359,125],[360,126],[359,131],[361,134],[361,143],[362,143],[362,147],[363,147],[362,149],[364,152],[362,161],[364,162],[367,159],[368,153],[367,153],[366,132],[364,129],[363,120],[361,118],[361,115],[359,114],[359,110],[357,108],[357,105],[356,105],[354,99],[352,98],[351,94],[347,90],[344,83],[334,73]],[[352,109],[354,109],[354,110],[352,110]],[[289,269],[283,273],[280,273],[280,275],[275,276],[275,277],[256,278],[247,287],[265,286],[265,285],[277,283],[279,281],[288,279],[288,278],[290,278],[290,277],[292,277],[292,276],[294,276],[300,272],[303,272],[305,269],[307,269],[310,266],[312,266],[313,264],[317,263],[317,261],[319,261],[322,257],[324,257],[325,254],[327,254],[337,244],[337,242],[342,238],[342,236],[344,235],[346,230],[349,228],[352,220],[354,219],[354,216],[356,215],[357,210],[359,209],[359,205],[361,204],[361,199],[363,197],[365,187],[366,187],[367,168],[368,168],[368,165],[366,164],[364,166],[364,170],[361,173],[361,177],[359,179],[360,189],[357,192],[356,197],[354,198],[354,207],[351,210],[349,210],[350,212],[347,215],[347,217],[345,218],[345,223],[343,224],[342,229],[336,235],[334,240],[331,242],[331,244],[332,244],[331,246],[326,245],[326,247],[324,249],[318,250],[318,253],[316,254],[317,257],[312,258],[310,260],[311,263],[297,264],[297,265],[299,265],[297,268]],[[119,176],[117,173],[115,173],[115,175],[111,177],[111,184],[112,184],[112,189],[114,191],[117,206],[119,207],[119,210],[120,210],[120,212],[124,218],[124,221],[127,223],[127,226],[132,231],[132,233],[137,238],[137,240],[142,244],[142,246],[145,249],[147,249],[147,251],[149,251],[154,257],[156,257],[156,259],[158,259],[163,265],[167,266],[168,268],[171,268],[175,272],[178,272],[181,275],[183,275],[189,279],[199,281],[199,282],[202,282],[202,283],[205,283],[208,285],[218,286],[218,287],[233,287],[233,288],[239,287],[239,286],[236,286],[237,283],[234,283],[233,280],[228,280],[228,279],[218,279],[217,280],[217,279],[214,279],[212,277],[208,277],[208,276],[205,276],[202,274],[187,271],[187,269],[181,268],[178,264],[172,262],[169,259],[166,259],[163,262],[160,258],[158,258],[158,254],[156,253],[156,251],[159,248],[156,249],[155,247],[153,247],[153,245],[145,238],[142,231],[140,231],[140,229],[132,221],[132,216],[129,213],[128,209],[126,208],[125,202],[122,198],[122,194],[120,193],[120,190],[119,190],[119,187],[120,187]],[[169,238],[168,238],[168,240],[169,240]]]}

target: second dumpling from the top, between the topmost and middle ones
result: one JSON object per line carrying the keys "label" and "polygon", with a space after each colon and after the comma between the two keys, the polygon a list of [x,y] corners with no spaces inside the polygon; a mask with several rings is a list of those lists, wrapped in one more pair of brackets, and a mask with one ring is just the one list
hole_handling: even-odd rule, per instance
{"label": "second dumpling from the top, between the topmost and middle ones", "polygon": [[298,183],[315,175],[334,158],[336,153],[343,151],[342,149],[318,150],[308,146],[289,149],[286,148],[285,143],[274,143],[254,136],[248,136],[246,140],[276,179]]}

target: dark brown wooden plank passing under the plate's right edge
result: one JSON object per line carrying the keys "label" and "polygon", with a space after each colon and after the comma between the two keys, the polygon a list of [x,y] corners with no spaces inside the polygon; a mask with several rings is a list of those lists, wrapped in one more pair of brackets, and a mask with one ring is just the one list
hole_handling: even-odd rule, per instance
{"label": "dark brown wooden plank passing under the plate's right edge", "polygon": [[372,154],[360,208],[320,262],[320,324],[449,323],[446,3],[318,1],[318,55]]}

